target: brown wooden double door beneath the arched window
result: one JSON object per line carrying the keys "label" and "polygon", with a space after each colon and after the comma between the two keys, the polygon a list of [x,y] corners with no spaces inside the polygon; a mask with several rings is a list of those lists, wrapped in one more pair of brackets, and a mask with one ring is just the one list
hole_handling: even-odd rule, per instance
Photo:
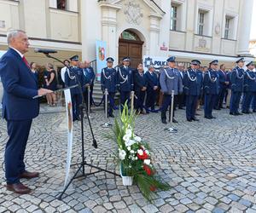
{"label": "brown wooden double door beneath the arched window", "polygon": [[143,61],[143,42],[119,40],[119,63],[124,57],[131,58],[131,67],[137,68],[138,63]]}

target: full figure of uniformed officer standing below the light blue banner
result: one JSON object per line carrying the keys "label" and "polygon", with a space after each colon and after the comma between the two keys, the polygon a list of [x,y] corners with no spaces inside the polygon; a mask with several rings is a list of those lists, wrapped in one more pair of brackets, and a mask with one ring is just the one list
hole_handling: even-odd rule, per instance
{"label": "full figure of uniformed officer standing below the light blue banner", "polygon": [[101,73],[101,84],[102,84],[102,92],[105,92],[105,89],[108,89],[108,116],[114,118],[113,116],[113,108],[114,108],[114,95],[116,93],[116,83],[117,83],[117,73],[113,68],[113,58],[108,57],[107,59],[107,67],[102,69]]}

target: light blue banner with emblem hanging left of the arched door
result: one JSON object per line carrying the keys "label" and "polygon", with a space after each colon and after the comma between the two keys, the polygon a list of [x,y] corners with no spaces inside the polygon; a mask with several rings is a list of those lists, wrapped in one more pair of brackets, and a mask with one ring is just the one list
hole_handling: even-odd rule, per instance
{"label": "light blue banner with emblem hanging left of the arched door", "polygon": [[107,50],[107,43],[104,41],[97,40],[96,41],[96,63],[97,63],[96,78],[97,80],[101,80],[102,69],[107,66],[106,50]]}

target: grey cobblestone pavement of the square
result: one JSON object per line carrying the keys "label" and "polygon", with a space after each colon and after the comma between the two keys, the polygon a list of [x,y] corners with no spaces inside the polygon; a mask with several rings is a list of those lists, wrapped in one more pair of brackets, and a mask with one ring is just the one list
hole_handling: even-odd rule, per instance
{"label": "grey cobblestone pavement of the square", "polygon": [[[217,119],[200,116],[200,122],[189,123],[184,113],[176,113],[176,134],[164,130],[160,113],[137,118],[137,135],[149,142],[160,176],[172,186],[158,193],[153,204],[136,186],[124,187],[119,177],[103,172],[73,181],[64,199],[56,199],[64,181],[65,113],[41,114],[33,121],[26,148],[27,169],[41,176],[22,180],[33,192],[19,196],[5,190],[0,170],[0,212],[256,212],[256,114],[233,117],[221,110],[214,112]],[[101,127],[103,112],[91,115],[98,149],[91,146],[85,123],[86,160],[114,170],[115,145],[104,137],[109,130]],[[73,164],[80,160],[79,123],[74,129]],[[1,163],[6,140],[1,119]]]}

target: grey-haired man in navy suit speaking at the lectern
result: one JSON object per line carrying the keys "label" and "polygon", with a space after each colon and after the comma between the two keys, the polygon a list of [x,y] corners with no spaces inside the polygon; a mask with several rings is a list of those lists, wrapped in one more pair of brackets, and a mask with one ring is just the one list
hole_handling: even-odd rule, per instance
{"label": "grey-haired man in navy suit speaking at the lectern", "polygon": [[15,193],[30,193],[31,189],[20,183],[20,178],[38,177],[38,172],[25,168],[26,141],[32,118],[39,112],[36,95],[52,92],[38,89],[29,64],[24,56],[28,51],[26,32],[15,30],[7,35],[9,50],[0,60],[0,77],[3,82],[3,118],[7,121],[9,140],[5,148],[5,177],[7,189]]}

